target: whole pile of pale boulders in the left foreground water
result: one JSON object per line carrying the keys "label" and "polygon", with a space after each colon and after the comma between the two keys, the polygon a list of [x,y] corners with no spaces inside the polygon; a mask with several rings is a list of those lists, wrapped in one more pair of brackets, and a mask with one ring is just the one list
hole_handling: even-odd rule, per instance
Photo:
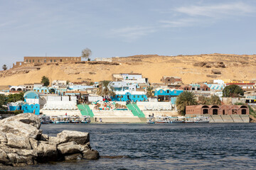
{"label": "whole pile of pale boulders in the left foreground water", "polygon": [[22,113],[0,121],[0,164],[25,166],[38,162],[98,159],[87,132],[63,130],[57,137],[42,134],[37,115]]}

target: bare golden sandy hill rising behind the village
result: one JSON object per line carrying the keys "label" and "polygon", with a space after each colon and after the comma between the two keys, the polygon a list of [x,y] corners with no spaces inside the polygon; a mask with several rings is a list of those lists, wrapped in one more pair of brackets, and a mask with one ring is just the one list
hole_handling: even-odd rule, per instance
{"label": "bare golden sandy hill rising behind the village", "polygon": [[150,82],[160,82],[163,76],[181,77],[185,84],[210,79],[256,79],[256,55],[135,55],[113,57],[112,62],[50,63],[18,67],[0,72],[0,85],[19,85],[50,81],[112,80],[114,73],[142,73]]}

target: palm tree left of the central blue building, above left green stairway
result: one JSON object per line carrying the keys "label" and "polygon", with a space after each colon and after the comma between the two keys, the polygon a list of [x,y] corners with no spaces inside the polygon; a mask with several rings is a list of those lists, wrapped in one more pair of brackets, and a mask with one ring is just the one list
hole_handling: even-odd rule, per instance
{"label": "palm tree left of the central blue building, above left green stairway", "polygon": [[114,89],[110,85],[111,81],[100,81],[99,88],[97,89],[97,95],[103,96],[104,98],[109,96],[115,96]]}

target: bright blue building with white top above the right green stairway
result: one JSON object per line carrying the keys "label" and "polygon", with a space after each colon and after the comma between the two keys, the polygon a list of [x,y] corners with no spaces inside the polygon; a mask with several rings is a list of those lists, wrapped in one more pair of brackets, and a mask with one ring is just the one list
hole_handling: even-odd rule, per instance
{"label": "bright blue building with white top above the right green stairway", "polygon": [[112,101],[146,101],[146,93],[144,91],[116,91],[116,96],[112,97]]}

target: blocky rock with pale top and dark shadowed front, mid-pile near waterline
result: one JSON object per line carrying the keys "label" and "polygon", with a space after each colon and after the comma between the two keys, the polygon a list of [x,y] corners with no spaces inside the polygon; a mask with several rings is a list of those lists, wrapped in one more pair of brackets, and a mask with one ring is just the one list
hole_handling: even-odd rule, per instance
{"label": "blocky rock with pale top and dark shadowed front, mid-pile near waterline", "polygon": [[38,142],[36,148],[38,162],[56,161],[58,159],[57,145],[53,142]]}

